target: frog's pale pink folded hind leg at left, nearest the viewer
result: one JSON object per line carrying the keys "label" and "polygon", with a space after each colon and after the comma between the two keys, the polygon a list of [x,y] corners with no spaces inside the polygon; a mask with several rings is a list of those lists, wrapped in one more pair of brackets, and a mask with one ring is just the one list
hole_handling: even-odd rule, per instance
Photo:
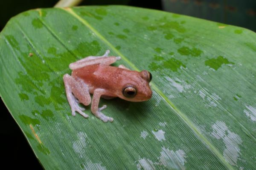
{"label": "frog's pale pink folded hind leg at left, nearest the viewer", "polygon": [[81,79],[75,79],[68,74],[63,76],[63,81],[72,115],[75,116],[76,112],[79,112],[79,114],[87,118],[88,115],[82,112],[84,111],[84,108],[80,107],[79,103],[82,103],[85,106],[90,104],[91,98],[88,86]]}

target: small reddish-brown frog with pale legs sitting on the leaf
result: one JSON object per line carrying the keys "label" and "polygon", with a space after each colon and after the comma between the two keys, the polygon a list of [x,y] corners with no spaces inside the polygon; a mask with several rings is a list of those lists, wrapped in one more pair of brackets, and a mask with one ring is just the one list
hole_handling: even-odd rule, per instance
{"label": "small reddish-brown frog with pale legs sitting on the leaf", "polygon": [[[147,70],[134,71],[124,65],[111,66],[120,56],[108,56],[107,50],[102,56],[88,56],[69,64],[71,75],[64,74],[63,81],[71,114],[76,112],[84,118],[89,116],[83,111],[83,104],[91,104],[91,112],[103,122],[113,122],[113,118],[102,113],[107,106],[99,107],[100,98],[121,98],[126,101],[148,101],[152,96],[149,82],[152,75]],[[90,94],[93,95],[91,98]]]}

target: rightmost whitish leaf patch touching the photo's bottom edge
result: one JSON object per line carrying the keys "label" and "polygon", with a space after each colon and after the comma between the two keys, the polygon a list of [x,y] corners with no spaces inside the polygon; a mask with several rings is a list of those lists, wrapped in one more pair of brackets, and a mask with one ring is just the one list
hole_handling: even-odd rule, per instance
{"label": "rightmost whitish leaf patch touching the photo's bottom edge", "polygon": [[183,150],[169,150],[162,147],[160,163],[167,169],[185,170],[185,152]]}

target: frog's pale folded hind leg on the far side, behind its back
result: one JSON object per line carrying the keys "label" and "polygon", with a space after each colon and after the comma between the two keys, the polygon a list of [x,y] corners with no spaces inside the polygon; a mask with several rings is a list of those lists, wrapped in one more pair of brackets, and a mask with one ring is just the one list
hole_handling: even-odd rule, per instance
{"label": "frog's pale folded hind leg on the far side, behind its back", "polygon": [[88,56],[74,63],[70,63],[69,68],[73,70],[73,69],[79,69],[81,67],[93,65],[93,64],[110,65],[116,62],[117,60],[121,60],[121,57],[108,56],[109,52],[110,51],[107,50],[105,54],[102,56]]}

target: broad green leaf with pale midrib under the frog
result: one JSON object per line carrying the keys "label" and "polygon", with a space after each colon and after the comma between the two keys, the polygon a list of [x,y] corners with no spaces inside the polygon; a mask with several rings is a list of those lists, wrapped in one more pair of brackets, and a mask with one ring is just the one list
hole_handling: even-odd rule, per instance
{"label": "broad green leaf with pale midrib under the frog", "polygon": [[[146,69],[146,102],[73,117],[62,76],[89,55]],[[253,169],[256,34],[127,6],[36,9],[0,34],[0,95],[45,169]],[[113,80],[114,81],[114,80]]]}

